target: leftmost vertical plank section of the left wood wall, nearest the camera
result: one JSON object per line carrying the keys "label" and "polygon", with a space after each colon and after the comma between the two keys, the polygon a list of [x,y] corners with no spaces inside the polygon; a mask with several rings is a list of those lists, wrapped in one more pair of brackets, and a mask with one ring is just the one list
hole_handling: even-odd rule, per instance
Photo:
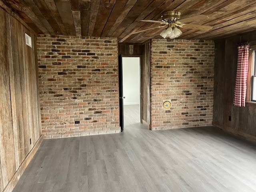
{"label": "leftmost vertical plank section of the left wood wall, nearest the camera", "polygon": [[12,130],[12,109],[10,105],[10,82],[8,69],[6,12],[0,9],[0,158],[3,188],[16,171],[14,139]]}

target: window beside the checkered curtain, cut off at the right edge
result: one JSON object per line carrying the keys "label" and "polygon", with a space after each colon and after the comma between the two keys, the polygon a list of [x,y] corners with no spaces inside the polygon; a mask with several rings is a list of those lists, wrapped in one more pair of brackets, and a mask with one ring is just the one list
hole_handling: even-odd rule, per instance
{"label": "window beside the checkered curtain, cut off at the right edge", "polygon": [[248,101],[256,102],[256,46],[250,50],[248,82]]}

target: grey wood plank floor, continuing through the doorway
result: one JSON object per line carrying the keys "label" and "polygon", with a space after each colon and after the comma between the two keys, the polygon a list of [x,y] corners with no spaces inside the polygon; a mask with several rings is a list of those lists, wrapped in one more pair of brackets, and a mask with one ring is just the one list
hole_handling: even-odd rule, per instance
{"label": "grey wood plank floor, continuing through the doorway", "polygon": [[256,144],[215,127],[44,140],[13,192],[255,192]]}

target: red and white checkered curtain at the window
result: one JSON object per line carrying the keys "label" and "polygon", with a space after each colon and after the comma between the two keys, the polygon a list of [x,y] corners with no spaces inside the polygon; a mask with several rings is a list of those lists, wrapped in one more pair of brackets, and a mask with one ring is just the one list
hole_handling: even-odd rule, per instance
{"label": "red and white checkered curtain at the window", "polygon": [[238,62],[234,91],[234,106],[245,107],[246,83],[248,75],[249,44],[238,46]]}

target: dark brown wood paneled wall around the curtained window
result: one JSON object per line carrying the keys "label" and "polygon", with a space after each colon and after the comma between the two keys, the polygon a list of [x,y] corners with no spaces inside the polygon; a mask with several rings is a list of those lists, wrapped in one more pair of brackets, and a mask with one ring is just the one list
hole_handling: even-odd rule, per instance
{"label": "dark brown wood paneled wall around the curtained window", "polygon": [[[237,67],[237,43],[256,40],[249,32],[215,41],[214,65],[214,126],[246,138],[256,139],[256,104],[233,105]],[[229,116],[231,120],[229,120]]]}

